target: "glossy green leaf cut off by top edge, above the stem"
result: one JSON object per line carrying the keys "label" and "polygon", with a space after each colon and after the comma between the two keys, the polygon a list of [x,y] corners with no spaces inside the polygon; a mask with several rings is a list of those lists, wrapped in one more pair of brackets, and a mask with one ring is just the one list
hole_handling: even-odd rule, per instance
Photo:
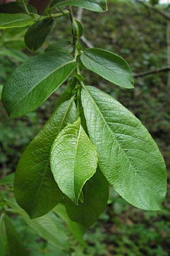
{"label": "glossy green leaf cut off by top edge, above the stem", "polygon": [[106,11],[107,10],[107,2],[106,0],[53,0],[51,6],[76,6],[82,7],[84,9],[88,9],[91,11]]}

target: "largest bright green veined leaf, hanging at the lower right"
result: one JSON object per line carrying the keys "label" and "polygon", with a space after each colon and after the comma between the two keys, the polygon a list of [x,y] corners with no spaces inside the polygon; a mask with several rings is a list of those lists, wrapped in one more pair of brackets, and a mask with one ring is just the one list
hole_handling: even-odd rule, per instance
{"label": "largest bright green veined leaf, hanging at the lower right", "polygon": [[99,166],[113,188],[130,204],[159,210],[166,193],[166,171],[158,146],[128,109],[91,86],[82,90],[88,133]]}

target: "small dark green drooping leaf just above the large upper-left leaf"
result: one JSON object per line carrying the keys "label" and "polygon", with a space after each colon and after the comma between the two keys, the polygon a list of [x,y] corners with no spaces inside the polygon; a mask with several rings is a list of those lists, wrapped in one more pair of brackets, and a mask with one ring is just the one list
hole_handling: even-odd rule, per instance
{"label": "small dark green drooping leaf just above the large upper-left leaf", "polygon": [[28,28],[25,34],[24,39],[26,46],[31,49],[31,51],[39,49],[55,26],[56,20],[53,18],[37,21]]}

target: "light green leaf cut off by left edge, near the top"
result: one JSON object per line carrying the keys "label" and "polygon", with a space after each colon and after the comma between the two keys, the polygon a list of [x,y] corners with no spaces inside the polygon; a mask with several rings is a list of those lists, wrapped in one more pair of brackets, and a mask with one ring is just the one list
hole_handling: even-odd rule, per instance
{"label": "light green leaf cut off by left edge, near the top", "polygon": [[11,27],[26,27],[32,22],[32,18],[27,14],[6,14],[0,13],[0,29]]}

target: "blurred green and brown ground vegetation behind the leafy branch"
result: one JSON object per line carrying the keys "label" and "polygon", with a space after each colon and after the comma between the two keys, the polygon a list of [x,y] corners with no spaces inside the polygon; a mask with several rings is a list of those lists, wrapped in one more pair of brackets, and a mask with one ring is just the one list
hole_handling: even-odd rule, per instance
{"label": "blurred green and brown ground vegetation behind the leafy branch", "polygon": [[[167,20],[132,1],[108,1],[107,13],[83,11],[85,36],[95,47],[108,49],[124,57],[134,73],[149,71],[167,65]],[[162,9],[167,8],[162,6]],[[168,11],[168,9],[167,9]],[[74,9],[76,14],[76,8]],[[169,9],[170,16],[170,9]],[[23,29],[1,32],[0,39],[0,89],[25,55]],[[70,22],[66,17],[57,20],[56,29],[46,40],[42,51],[59,39],[71,39]],[[82,46],[83,43],[82,43]],[[6,51],[6,48],[10,49]],[[170,53],[169,53],[170,54]],[[94,73],[86,73],[86,81],[111,94],[133,112],[150,131],[168,169],[170,167],[170,112],[168,72],[155,73],[135,79],[135,89],[114,86]],[[64,90],[62,85],[47,102],[35,112],[21,118],[8,119],[1,104],[0,116],[0,164],[1,177],[15,171],[24,148],[37,134],[52,113],[56,101]],[[25,226],[22,218],[14,218],[14,225],[23,237],[23,243],[31,255],[61,256],[54,246]],[[87,247],[70,238],[71,253],[63,255],[170,255],[170,190],[161,212],[145,212],[132,207],[116,192],[111,191],[109,204],[99,221],[84,236]]]}

